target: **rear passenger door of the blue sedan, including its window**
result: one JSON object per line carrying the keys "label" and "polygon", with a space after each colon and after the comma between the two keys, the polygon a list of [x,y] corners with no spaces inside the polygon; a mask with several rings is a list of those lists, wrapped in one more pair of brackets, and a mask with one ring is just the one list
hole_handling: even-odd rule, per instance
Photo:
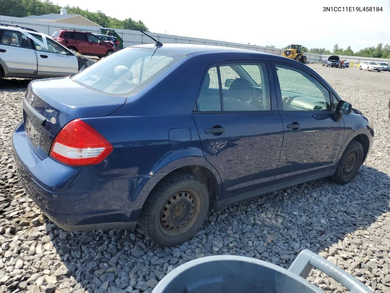
{"label": "rear passenger door of the blue sedan, including its window", "polygon": [[222,179],[222,197],[272,183],[283,140],[267,61],[207,68],[193,118],[203,154]]}

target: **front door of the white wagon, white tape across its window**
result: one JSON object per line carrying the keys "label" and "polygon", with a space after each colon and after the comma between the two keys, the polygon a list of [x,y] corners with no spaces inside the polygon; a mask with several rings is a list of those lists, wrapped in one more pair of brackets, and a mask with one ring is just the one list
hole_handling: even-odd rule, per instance
{"label": "front door of the white wagon, white tape across its window", "polygon": [[76,56],[49,38],[43,39],[42,36],[35,34],[32,34],[32,36],[34,37],[32,42],[34,43],[35,53],[37,54],[37,75],[39,77],[68,76],[78,71]]}

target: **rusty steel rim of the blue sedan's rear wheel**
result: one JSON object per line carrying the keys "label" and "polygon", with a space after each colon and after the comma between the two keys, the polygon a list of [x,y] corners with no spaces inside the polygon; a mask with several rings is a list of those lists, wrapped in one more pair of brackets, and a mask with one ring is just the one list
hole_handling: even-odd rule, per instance
{"label": "rusty steel rim of the blue sedan's rear wheel", "polygon": [[167,236],[187,232],[197,220],[200,210],[199,194],[193,189],[181,189],[172,194],[160,210],[159,227]]}

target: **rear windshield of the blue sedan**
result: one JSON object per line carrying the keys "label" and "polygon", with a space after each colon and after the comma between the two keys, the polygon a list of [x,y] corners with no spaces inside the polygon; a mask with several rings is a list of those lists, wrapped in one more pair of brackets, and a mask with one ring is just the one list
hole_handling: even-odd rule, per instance
{"label": "rear windshield of the blue sedan", "polygon": [[129,96],[184,56],[145,48],[124,48],[71,77],[78,84],[115,96]]}

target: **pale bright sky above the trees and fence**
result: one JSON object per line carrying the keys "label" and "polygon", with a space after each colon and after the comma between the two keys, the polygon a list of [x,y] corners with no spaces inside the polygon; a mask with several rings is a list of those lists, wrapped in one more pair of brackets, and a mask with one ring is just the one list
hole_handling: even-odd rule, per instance
{"label": "pale bright sky above the trees and fence", "polygon": [[[142,20],[151,32],[282,48],[301,44],[358,51],[390,44],[390,0],[339,1],[126,1],[53,0],[124,20]],[[126,3],[126,4],[125,4]],[[292,5],[293,4],[293,5]],[[382,7],[374,12],[324,12],[326,7]],[[344,9],[345,10],[345,9]]]}

